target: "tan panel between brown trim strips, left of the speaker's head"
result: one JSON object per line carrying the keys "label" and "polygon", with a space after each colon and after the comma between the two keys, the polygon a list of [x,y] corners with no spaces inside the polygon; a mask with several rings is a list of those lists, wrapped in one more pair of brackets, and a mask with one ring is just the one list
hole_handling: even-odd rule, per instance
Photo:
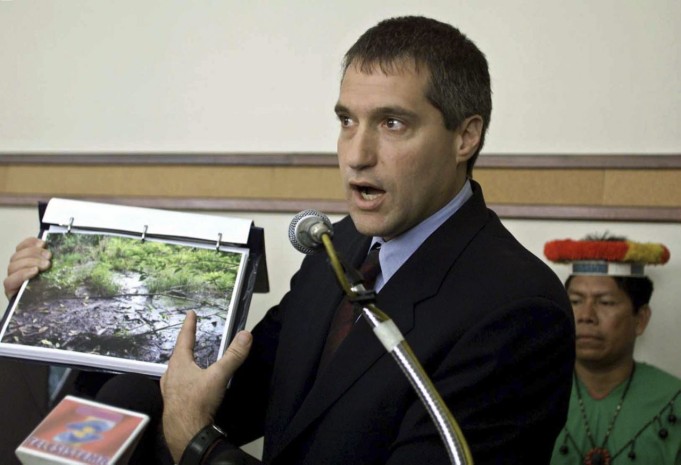
{"label": "tan panel between brown trim strips, left of the speaker's head", "polygon": [[2,192],[73,196],[342,199],[337,168],[252,166],[44,166],[4,172]]}

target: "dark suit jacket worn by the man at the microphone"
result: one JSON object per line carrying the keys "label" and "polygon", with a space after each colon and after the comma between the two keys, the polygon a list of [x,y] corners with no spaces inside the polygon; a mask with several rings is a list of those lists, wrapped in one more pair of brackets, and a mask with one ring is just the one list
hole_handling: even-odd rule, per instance
{"label": "dark suit jacket worn by the man at the microphone", "polygon": [[[548,463],[565,423],[574,323],[563,286],[487,210],[480,186],[378,294],[461,425],[477,465]],[[370,239],[349,218],[340,255]],[[368,324],[317,365],[341,299],[324,254],[254,329],[218,415],[236,443],[265,435],[272,464],[449,463],[436,427]]]}

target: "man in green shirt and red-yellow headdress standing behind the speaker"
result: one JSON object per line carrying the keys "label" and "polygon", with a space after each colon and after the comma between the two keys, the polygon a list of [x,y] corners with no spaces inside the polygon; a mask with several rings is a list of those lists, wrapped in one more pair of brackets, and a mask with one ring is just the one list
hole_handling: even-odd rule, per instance
{"label": "man in green shirt and red-yellow headdress standing behind the speaker", "polygon": [[666,263],[669,250],[604,236],[551,241],[544,254],[572,264],[565,288],[577,333],[568,421],[551,464],[681,464],[681,380],[634,360],[651,316],[644,266]]}

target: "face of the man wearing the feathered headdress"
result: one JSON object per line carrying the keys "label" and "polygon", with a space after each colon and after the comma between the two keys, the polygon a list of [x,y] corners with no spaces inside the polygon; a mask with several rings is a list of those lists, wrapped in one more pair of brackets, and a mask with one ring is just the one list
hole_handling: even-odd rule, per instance
{"label": "face of the man wearing the feathered headdress", "polygon": [[574,276],[567,291],[577,328],[577,362],[608,367],[632,360],[650,309],[634,313],[629,296],[609,276]]}

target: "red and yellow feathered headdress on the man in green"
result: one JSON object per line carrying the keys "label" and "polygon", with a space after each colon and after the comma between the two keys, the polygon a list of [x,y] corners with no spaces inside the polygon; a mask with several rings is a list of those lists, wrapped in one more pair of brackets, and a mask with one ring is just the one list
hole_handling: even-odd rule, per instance
{"label": "red and yellow feathered headdress on the man in green", "polygon": [[627,240],[562,239],[544,244],[544,255],[556,263],[572,263],[572,274],[645,276],[645,265],[669,261],[669,249],[662,244]]}

